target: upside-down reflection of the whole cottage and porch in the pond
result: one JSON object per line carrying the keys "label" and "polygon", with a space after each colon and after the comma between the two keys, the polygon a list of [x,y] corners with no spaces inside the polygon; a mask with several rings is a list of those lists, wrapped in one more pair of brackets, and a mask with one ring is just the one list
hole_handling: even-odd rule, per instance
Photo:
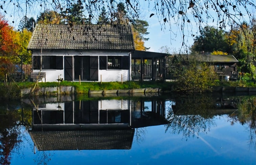
{"label": "upside-down reflection of the whole cottage and porch in the pond", "polygon": [[131,149],[136,128],[163,125],[164,100],[40,104],[29,134],[38,150]]}

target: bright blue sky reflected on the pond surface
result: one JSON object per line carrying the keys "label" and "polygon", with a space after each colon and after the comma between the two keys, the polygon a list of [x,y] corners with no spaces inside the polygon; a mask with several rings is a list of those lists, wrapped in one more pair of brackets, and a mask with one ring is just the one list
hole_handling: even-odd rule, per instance
{"label": "bright blue sky reflected on the pond surface", "polygon": [[[235,100],[237,98],[233,99]],[[235,110],[236,116],[241,116],[242,114],[240,112],[242,110],[239,110],[239,107],[242,107],[241,98],[239,99],[240,106],[236,105],[238,107],[238,110]],[[250,97],[250,99],[254,100],[255,98],[252,99]],[[140,101],[140,99],[136,100],[137,104],[139,102],[138,100]],[[176,117],[184,117],[183,120],[191,119],[190,117],[187,118],[187,116],[200,117],[199,114],[191,114],[191,112],[178,112],[179,106],[177,104],[184,103],[180,102],[177,98],[172,100],[177,100],[175,107],[178,109],[176,113],[179,115],[176,115]],[[245,100],[248,101],[248,98],[243,98],[242,102],[246,103]],[[148,99],[142,102],[146,102],[144,107],[150,106]],[[159,99],[157,102],[159,102]],[[188,101],[186,102],[189,103]],[[169,109],[169,103],[170,101],[165,102],[165,109],[167,111]],[[185,106],[183,105],[183,107]],[[144,110],[150,111],[152,107],[148,108],[149,110],[147,108]],[[131,109],[133,109],[132,106]],[[226,109],[230,109],[230,107],[226,107]],[[167,112],[165,115],[168,116]],[[205,115],[203,114],[203,116]],[[158,125],[133,128],[134,137],[131,149],[51,151],[38,151],[36,149],[36,154],[33,153],[34,143],[27,129],[20,127],[22,142],[18,144],[16,149],[12,150],[10,162],[11,164],[26,165],[255,164],[255,132],[253,130],[251,132],[249,127],[252,122],[249,118],[252,116],[246,116],[247,122],[243,125],[239,121],[231,125],[233,119],[230,116],[232,114],[219,114],[214,115],[212,118],[203,119],[203,121],[197,121],[198,118],[193,118],[195,119],[194,126],[189,128],[182,128],[183,123],[176,123],[169,127],[167,125]],[[131,118],[133,119],[133,117]],[[241,120],[241,117],[239,119]],[[179,122],[179,120],[176,121]],[[182,122],[189,123],[187,121]],[[205,123],[205,125],[202,123]],[[179,124],[181,128],[179,128]],[[202,129],[201,127],[204,128]],[[252,139],[251,134],[253,134]]]}

